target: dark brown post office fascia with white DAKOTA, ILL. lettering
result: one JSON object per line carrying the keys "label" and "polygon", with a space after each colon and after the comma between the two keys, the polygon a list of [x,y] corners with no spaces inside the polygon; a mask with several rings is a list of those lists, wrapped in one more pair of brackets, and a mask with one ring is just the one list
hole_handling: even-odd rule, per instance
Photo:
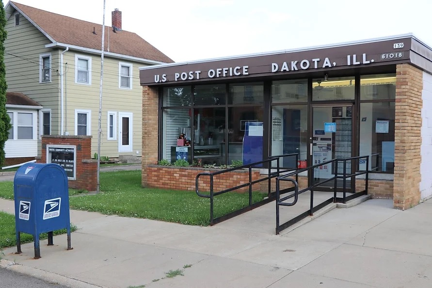
{"label": "dark brown post office fascia with white DAKOTA, ILL. lettering", "polygon": [[143,86],[185,85],[250,77],[293,77],[313,72],[324,75],[337,70],[400,63],[411,63],[432,72],[432,49],[409,33],[326,46],[140,67],[140,83]]}

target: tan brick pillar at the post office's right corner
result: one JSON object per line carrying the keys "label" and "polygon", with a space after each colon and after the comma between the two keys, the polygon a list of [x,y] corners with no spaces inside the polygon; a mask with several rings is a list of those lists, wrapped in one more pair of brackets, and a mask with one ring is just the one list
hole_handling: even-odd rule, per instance
{"label": "tan brick pillar at the post office's right corner", "polygon": [[398,64],[393,203],[402,210],[420,201],[422,89],[423,72],[410,64]]}

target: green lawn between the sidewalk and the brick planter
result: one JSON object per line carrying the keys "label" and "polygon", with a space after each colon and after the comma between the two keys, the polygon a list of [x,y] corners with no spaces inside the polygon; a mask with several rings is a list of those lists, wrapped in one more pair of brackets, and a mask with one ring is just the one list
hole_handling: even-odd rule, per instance
{"label": "green lawn between the sidewalk and the brick planter", "polygon": [[[71,196],[71,209],[96,211],[107,215],[163,220],[189,225],[210,223],[210,200],[193,191],[172,191],[141,187],[141,171],[100,173],[100,193]],[[82,192],[82,191],[78,191]],[[70,194],[78,193],[76,191]],[[0,197],[13,199],[12,182],[0,182]],[[253,202],[267,193],[254,192]],[[249,203],[248,193],[228,192],[214,198],[214,217]]]}

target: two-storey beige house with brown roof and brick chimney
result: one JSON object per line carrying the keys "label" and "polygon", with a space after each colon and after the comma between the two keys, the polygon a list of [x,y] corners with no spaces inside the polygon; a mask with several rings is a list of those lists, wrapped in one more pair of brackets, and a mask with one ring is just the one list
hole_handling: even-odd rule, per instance
{"label": "two-storey beige house with brown roof and brick chimney", "polygon": [[[41,135],[92,135],[97,152],[102,25],[7,3],[5,41],[8,92],[43,106]],[[136,33],[122,30],[112,11],[105,30],[101,156],[140,159],[142,87],[139,67],[173,62]],[[39,126],[43,125],[43,129]],[[40,145],[39,145],[40,153]],[[37,155],[34,155],[37,156]],[[6,155],[8,158],[8,155]]]}

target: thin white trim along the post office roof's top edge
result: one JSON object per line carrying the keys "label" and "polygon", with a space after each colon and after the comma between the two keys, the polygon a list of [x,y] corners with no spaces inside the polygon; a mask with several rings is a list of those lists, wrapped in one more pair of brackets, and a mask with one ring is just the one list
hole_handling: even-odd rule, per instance
{"label": "thin white trim along the post office roof's top edge", "polygon": [[[414,37],[413,33],[387,36],[387,37],[381,37],[381,38],[372,38],[372,39],[366,39],[366,40],[357,40],[357,41],[352,41],[352,42],[342,42],[342,43],[329,44],[329,45],[311,46],[311,47],[304,47],[304,48],[293,48],[293,49],[285,49],[285,50],[277,50],[277,51],[269,51],[269,52],[261,52],[261,53],[234,55],[234,56],[227,56],[227,57],[221,57],[221,58],[209,58],[209,59],[202,59],[202,60],[176,62],[176,63],[165,63],[165,64],[159,64],[159,65],[153,65],[153,66],[139,67],[139,70],[157,69],[157,68],[161,68],[161,67],[181,66],[181,65],[187,65],[187,64],[206,63],[206,62],[232,60],[232,59],[240,59],[240,58],[252,58],[252,57],[258,57],[258,56],[269,56],[269,55],[285,54],[285,53],[292,53],[292,52],[310,51],[310,50],[323,49],[323,48],[336,48],[336,47],[352,46],[352,45],[358,45],[358,44],[367,44],[367,43],[373,43],[373,42],[378,42],[378,41],[386,41],[386,40],[392,40],[392,39],[401,39],[401,38],[407,38],[407,37]],[[416,40],[418,41],[418,39],[416,39]]]}

